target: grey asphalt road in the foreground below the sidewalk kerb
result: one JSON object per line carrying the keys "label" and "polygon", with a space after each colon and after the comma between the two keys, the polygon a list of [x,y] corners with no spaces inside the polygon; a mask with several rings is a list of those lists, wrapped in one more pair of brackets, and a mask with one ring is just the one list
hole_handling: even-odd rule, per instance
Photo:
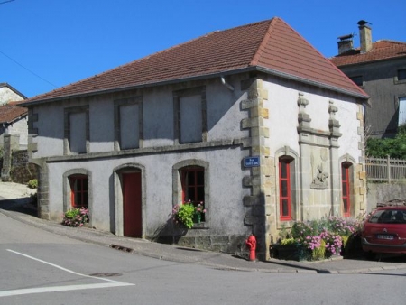
{"label": "grey asphalt road in the foreground below the sidewalk kerb", "polygon": [[161,261],[0,214],[0,304],[404,304],[405,271],[261,273]]}

